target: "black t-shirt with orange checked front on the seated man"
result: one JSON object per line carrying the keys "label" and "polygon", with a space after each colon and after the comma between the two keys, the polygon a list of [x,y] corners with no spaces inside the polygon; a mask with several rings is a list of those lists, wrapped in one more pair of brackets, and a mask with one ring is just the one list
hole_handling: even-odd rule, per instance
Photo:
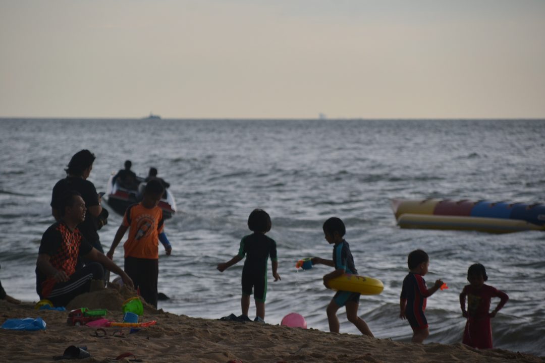
{"label": "black t-shirt with orange checked front on the seated man", "polygon": [[[51,225],[41,237],[38,254],[46,254],[51,257],[50,263],[57,270],[63,270],[68,276],[76,270],[78,256],[87,255],[93,249],[80,231],[76,228],[70,231],[64,222],[60,221]],[[37,291],[42,291],[42,284],[47,276],[36,268]]]}

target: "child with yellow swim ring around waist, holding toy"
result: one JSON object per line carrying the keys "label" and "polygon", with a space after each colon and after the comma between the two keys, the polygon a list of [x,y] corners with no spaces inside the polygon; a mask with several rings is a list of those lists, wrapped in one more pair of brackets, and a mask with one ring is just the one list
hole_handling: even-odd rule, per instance
{"label": "child with yellow swim ring around waist, holding toy", "polygon": [[[331,279],[342,276],[345,273],[358,274],[354,266],[354,258],[350,252],[350,246],[343,238],[346,233],[346,227],[340,218],[332,217],[324,222],[323,225],[325,240],[329,244],[334,244],[333,247],[333,259],[325,260],[320,257],[312,257],[312,264],[325,264],[327,266],[335,267],[335,270],[329,274],[324,275],[324,285],[328,287],[328,282]],[[339,321],[337,318],[337,310],[342,306],[346,306],[346,317],[348,321],[356,326],[362,334],[374,337],[373,333],[367,326],[367,323],[358,316],[358,307],[360,302],[360,293],[350,291],[337,291],[335,296],[331,299],[331,302],[326,309],[328,314],[329,330],[332,333],[339,332]]]}

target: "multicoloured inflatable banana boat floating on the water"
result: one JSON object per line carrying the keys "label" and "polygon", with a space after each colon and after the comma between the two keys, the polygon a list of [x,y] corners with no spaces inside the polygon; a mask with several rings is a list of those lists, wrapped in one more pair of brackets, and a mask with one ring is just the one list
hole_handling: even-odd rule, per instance
{"label": "multicoloured inflatable banana boat floating on the water", "polygon": [[545,231],[543,204],[450,199],[393,199],[391,202],[401,228],[489,233]]}

